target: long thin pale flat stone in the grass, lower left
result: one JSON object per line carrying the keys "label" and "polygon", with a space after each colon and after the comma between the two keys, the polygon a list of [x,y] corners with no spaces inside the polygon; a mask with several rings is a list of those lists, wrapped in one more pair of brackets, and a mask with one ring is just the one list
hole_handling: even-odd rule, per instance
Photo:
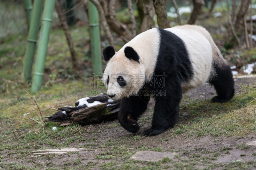
{"label": "long thin pale flat stone in the grass, lower left", "polygon": [[39,151],[32,151],[29,152],[29,154],[63,154],[63,153],[68,153],[68,152],[78,152],[78,151],[83,151],[85,148],[62,148],[62,149],[44,149],[44,150],[39,150]]}

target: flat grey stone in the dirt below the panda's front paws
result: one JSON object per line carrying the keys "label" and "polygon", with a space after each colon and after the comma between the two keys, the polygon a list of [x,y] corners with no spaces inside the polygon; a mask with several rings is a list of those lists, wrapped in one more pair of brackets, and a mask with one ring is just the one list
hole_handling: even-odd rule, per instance
{"label": "flat grey stone in the dirt below the panda's front paws", "polygon": [[139,151],[136,152],[130,159],[140,160],[140,161],[147,161],[147,162],[157,162],[164,158],[173,159],[175,155],[178,153],[176,152],[155,152],[155,151]]}

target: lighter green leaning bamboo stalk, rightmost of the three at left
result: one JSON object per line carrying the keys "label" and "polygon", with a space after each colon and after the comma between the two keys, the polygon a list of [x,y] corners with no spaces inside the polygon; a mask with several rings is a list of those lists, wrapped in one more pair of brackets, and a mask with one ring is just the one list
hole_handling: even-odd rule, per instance
{"label": "lighter green leaning bamboo stalk, rightmost of the three at left", "polygon": [[42,85],[44,63],[47,53],[47,46],[49,41],[50,29],[52,25],[52,14],[54,10],[55,0],[45,0],[44,12],[42,17],[42,26],[40,30],[40,37],[37,47],[36,64],[33,73],[32,91],[39,90]]}

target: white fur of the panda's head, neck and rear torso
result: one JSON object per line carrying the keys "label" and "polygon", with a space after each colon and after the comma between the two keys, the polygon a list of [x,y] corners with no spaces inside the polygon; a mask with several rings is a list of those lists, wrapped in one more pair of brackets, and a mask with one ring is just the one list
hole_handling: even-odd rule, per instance
{"label": "white fur of the panda's head, neck and rear torso", "polygon": [[[213,42],[210,33],[203,27],[184,25],[167,28],[165,30],[174,33],[183,40],[188,51],[189,59],[192,63],[193,71],[195,72],[193,78],[189,82],[184,82],[182,84],[183,93],[191,88],[203,85],[209,78],[211,78],[211,74],[214,74],[212,68],[213,59],[215,61],[224,62],[221,55],[219,56],[222,58],[218,55],[212,55],[220,53],[220,51]],[[159,42],[160,33],[157,28],[152,28],[146,32],[140,33],[130,42],[126,43],[110,59],[104,71],[103,80],[106,81],[108,75],[111,75],[111,78],[109,77],[109,85],[105,83],[106,88],[108,88],[107,94],[116,94],[116,96],[111,99],[118,100],[124,96],[129,97],[129,95],[138,92],[141,88],[142,83],[139,83],[139,85],[134,85],[134,83],[151,81],[159,53]],[[127,46],[134,48],[139,54],[140,64],[125,57],[124,48]],[[124,79],[127,80],[127,84],[131,86],[120,88],[116,81],[116,78],[118,77],[117,73],[125,75]],[[135,76],[131,76],[137,73],[145,75],[145,77],[140,76],[139,78],[135,78]],[[134,88],[132,88],[132,86]]]}

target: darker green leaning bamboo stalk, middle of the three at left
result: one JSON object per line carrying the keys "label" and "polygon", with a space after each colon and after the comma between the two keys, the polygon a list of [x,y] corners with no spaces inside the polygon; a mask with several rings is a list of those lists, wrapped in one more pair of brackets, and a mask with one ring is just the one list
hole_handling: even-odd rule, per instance
{"label": "darker green leaning bamboo stalk, middle of the three at left", "polygon": [[26,81],[31,79],[31,71],[36,49],[37,34],[43,9],[43,0],[35,0],[28,31],[28,44],[24,58],[23,74]]}

